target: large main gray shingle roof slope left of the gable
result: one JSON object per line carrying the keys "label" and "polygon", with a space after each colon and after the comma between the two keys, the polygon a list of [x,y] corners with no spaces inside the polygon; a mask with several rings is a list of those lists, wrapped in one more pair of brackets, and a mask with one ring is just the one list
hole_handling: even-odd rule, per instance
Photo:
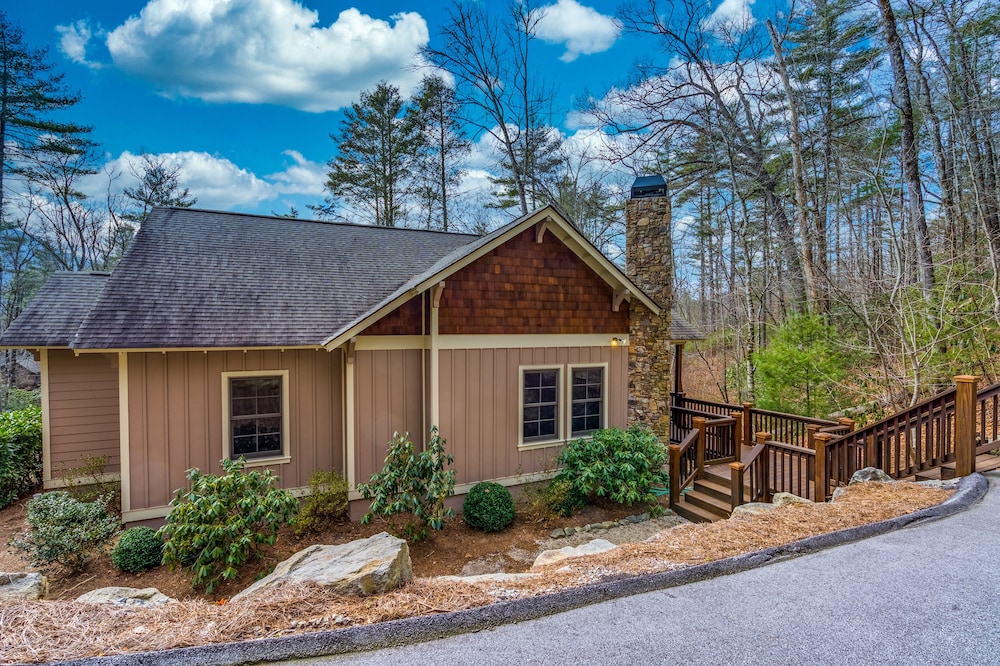
{"label": "large main gray shingle roof slope left of the gable", "polygon": [[319,345],[476,236],[156,209],[79,349]]}

